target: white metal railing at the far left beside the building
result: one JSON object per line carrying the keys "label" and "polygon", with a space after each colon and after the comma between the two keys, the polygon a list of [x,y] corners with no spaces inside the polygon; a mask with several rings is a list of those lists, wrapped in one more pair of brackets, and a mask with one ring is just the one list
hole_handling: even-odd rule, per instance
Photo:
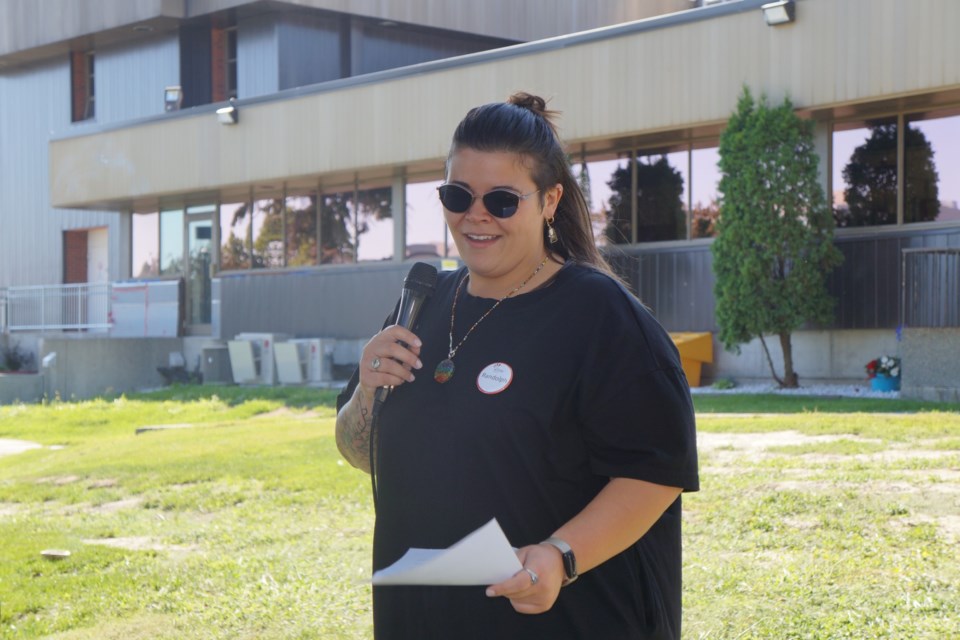
{"label": "white metal railing at the far left beside the building", "polygon": [[8,287],[0,292],[0,329],[110,329],[109,282]]}

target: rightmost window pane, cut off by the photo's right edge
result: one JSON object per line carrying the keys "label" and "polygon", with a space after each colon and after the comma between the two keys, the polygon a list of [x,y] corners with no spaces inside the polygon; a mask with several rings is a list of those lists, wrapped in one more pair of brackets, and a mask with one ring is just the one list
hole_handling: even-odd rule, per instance
{"label": "rightmost window pane, cut off by the photo's right edge", "polygon": [[960,222],[960,115],[907,118],[904,222]]}

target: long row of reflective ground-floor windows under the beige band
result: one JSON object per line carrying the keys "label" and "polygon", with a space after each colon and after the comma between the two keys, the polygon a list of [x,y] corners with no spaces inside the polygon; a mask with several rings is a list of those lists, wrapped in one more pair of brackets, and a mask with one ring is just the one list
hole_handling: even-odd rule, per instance
{"label": "long row of reflective ground-floor windows under the beige band", "polygon": [[[898,170],[899,128],[904,154]],[[960,115],[835,127],[833,209],[838,226],[960,224],[956,140]],[[719,215],[717,160],[716,146],[691,146],[575,162],[598,245],[712,236]],[[903,209],[898,214],[901,175]],[[207,267],[212,263],[218,271],[390,260],[398,231],[406,258],[454,257],[456,247],[437,200],[438,184],[404,185],[405,228],[399,230],[392,214],[393,191],[384,184],[276,193],[249,202],[136,215],[132,272],[135,277],[184,274],[201,255]],[[198,226],[201,219],[205,222]]]}

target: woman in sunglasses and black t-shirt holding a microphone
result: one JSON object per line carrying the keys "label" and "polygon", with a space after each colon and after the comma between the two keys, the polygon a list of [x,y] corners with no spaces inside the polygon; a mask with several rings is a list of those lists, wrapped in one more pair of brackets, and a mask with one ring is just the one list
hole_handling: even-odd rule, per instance
{"label": "woman in sunglasses and black t-shirt holding a microphone", "polygon": [[496,517],[523,570],[484,587],[375,587],[377,638],[679,638],[693,410],[669,336],[598,253],[544,101],[472,109],[439,187],[465,268],[416,332],[388,326],[341,394],[370,471],[374,569]]}

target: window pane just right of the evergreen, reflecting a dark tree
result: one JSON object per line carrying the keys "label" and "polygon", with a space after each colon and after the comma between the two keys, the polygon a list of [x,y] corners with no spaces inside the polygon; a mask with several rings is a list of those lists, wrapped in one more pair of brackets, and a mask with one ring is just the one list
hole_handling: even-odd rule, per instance
{"label": "window pane just right of the evergreen, reflecting a dark tree", "polygon": [[897,223],[897,122],[837,124],[833,215],[838,227]]}

